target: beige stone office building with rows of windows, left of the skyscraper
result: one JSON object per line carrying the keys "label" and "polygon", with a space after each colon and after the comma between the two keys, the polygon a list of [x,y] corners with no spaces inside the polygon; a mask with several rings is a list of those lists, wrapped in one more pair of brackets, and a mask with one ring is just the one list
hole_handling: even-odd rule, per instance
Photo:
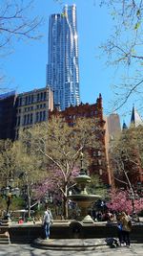
{"label": "beige stone office building with rows of windows, left of the skyscraper", "polygon": [[16,137],[19,128],[29,128],[36,123],[47,121],[49,110],[52,108],[52,91],[48,86],[19,94],[16,99]]}

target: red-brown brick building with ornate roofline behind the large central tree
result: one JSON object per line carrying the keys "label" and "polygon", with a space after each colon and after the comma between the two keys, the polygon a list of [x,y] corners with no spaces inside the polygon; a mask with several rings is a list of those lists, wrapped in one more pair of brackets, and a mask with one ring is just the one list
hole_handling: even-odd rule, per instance
{"label": "red-brown brick building with ornate roofline behind the large central tree", "polygon": [[103,107],[102,107],[102,97],[101,94],[97,98],[96,103],[93,105],[80,104],[76,106],[70,106],[64,111],[60,111],[55,108],[50,111],[50,117],[61,115],[65,118],[66,122],[70,125],[75,123],[77,118],[96,118],[100,128],[103,129],[102,137],[100,137],[101,147],[100,149],[93,151],[90,149],[91,155],[91,166],[89,167],[90,174],[100,175],[103,182],[107,185],[111,185],[111,175],[108,170],[106,149],[105,149],[105,121],[103,119]]}

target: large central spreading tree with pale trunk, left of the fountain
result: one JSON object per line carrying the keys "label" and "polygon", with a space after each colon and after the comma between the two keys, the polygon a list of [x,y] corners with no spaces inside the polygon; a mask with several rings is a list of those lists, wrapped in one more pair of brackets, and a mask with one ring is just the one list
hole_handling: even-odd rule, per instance
{"label": "large central spreading tree with pale trunk, left of the fountain", "polygon": [[89,148],[102,147],[99,141],[101,133],[103,129],[94,119],[78,119],[70,127],[62,117],[54,117],[49,123],[41,123],[20,135],[30,153],[36,157],[43,155],[47,161],[48,179],[56,182],[61,193],[65,218],[68,217],[67,196],[72,186],[72,175],[80,168],[80,152],[84,152],[84,165],[87,167]]}

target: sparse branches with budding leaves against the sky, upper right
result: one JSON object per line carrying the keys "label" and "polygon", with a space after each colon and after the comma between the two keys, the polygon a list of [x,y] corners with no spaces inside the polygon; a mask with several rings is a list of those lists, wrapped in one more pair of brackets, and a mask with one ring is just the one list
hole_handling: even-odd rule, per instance
{"label": "sparse branches with budding leaves against the sky, upper right", "polygon": [[[101,49],[107,55],[107,64],[122,73],[121,83],[114,84],[115,101],[113,109],[125,105],[132,97],[142,100],[142,0],[102,0],[113,20],[112,35]],[[120,75],[121,76],[121,75]]]}

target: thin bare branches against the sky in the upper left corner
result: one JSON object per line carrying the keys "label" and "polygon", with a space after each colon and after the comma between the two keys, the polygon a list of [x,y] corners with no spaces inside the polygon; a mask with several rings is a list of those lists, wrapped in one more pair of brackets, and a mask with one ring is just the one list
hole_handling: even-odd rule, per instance
{"label": "thin bare branches against the sky in the upper left corner", "polygon": [[[0,56],[11,53],[12,43],[23,39],[38,39],[37,29],[42,22],[38,16],[32,16],[31,0],[5,0],[0,6]],[[31,17],[30,17],[31,12]],[[0,77],[1,84],[4,76]],[[0,88],[2,90],[4,88]],[[6,89],[6,88],[5,88]]]}

